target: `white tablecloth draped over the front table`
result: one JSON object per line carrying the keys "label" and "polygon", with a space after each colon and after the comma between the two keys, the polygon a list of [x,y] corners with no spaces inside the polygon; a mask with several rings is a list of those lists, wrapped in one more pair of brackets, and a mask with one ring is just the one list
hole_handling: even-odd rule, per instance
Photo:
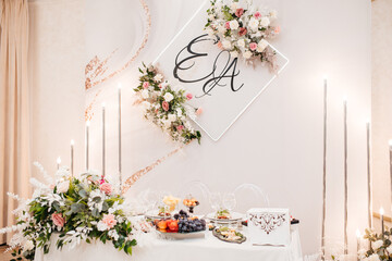
{"label": "white tablecloth draped over the front table", "polygon": [[[246,228],[243,231],[246,236]],[[51,249],[48,254],[39,249],[36,251],[35,261],[200,261],[200,260],[224,260],[224,261],[302,261],[301,240],[297,225],[292,226],[292,241],[289,247],[252,246],[245,243],[229,244],[216,238],[211,232],[206,232],[205,238],[193,238],[183,240],[167,240],[151,238],[145,246],[137,246],[133,254],[127,256],[118,251],[111,243],[103,245],[82,243],[74,249],[58,250],[56,238],[52,238]]]}

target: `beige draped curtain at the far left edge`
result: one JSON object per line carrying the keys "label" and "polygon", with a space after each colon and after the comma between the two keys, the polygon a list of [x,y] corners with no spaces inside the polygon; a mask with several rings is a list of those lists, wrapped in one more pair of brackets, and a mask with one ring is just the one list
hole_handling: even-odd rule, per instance
{"label": "beige draped curtain at the far left edge", "polygon": [[[29,90],[27,0],[0,0],[0,226],[14,224],[17,202],[29,195]],[[9,237],[10,238],[10,237]],[[0,238],[4,243],[5,237]]]}

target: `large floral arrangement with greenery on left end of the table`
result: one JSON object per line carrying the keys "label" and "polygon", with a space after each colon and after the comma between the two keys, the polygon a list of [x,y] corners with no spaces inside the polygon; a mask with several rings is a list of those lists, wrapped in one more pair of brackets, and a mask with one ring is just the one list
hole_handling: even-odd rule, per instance
{"label": "large floral arrangement with greenery on left end of the table", "polygon": [[73,248],[81,240],[88,244],[100,240],[103,244],[112,241],[114,248],[132,254],[132,247],[136,246],[135,224],[127,217],[132,210],[114,192],[111,183],[94,173],[76,178],[65,167],[56,173],[58,179],[53,182],[40,164],[35,164],[51,185],[32,178],[35,187],[32,199],[9,194],[20,203],[13,211],[17,224],[0,229],[0,234],[15,232],[9,248],[19,249],[14,250],[14,257],[23,254],[25,259],[34,260],[37,248],[48,253],[54,235],[60,249],[65,245]]}

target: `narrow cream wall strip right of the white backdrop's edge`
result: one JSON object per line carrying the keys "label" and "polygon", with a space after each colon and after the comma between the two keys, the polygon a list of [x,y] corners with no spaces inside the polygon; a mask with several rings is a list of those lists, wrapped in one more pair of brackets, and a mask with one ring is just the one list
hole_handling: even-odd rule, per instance
{"label": "narrow cream wall strip right of the white backdrop's edge", "polygon": [[[373,210],[383,207],[385,214],[392,216],[391,184],[388,141],[392,138],[392,2],[372,2],[372,173]],[[387,33],[387,34],[385,34]]]}

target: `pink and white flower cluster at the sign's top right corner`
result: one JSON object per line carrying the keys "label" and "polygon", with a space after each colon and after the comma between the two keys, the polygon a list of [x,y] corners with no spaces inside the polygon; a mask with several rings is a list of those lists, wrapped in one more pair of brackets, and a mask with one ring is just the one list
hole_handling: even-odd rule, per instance
{"label": "pink and white flower cluster at the sign's top right corner", "polygon": [[238,0],[228,3],[212,0],[207,14],[205,29],[218,38],[219,48],[230,51],[233,58],[242,57],[247,62],[259,59],[273,71],[278,70],[277,53],[267,41],[280,33],[280,26],[272,25],[277,11],[254,10]]}

